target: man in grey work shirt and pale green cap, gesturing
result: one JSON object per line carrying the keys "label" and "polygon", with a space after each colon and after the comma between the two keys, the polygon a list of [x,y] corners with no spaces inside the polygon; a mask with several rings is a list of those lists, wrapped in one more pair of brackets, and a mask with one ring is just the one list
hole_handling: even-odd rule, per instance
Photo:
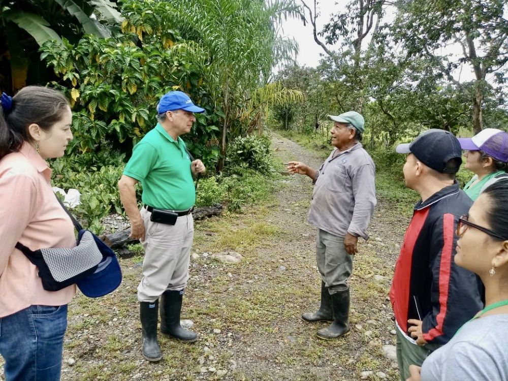
{"label": "man in grey work shirt and pale green cap, gesturing", "polygon": [[358,237],[367,240],[367,226],[376,205],[375,166],[363,149],[363,116],[355,111],[328,115],[332,151],[319,170],[300,162],[289,162],[290,173],[309,176],[315,186],[308,216],[317,228],[316,260],[321,273],[321,306],[306,312],[306,322],[332,321],[317,331],[322,339],[332,339],[350,331],[348,323],[350,291],[347,278],[353,271],[353,255]]}

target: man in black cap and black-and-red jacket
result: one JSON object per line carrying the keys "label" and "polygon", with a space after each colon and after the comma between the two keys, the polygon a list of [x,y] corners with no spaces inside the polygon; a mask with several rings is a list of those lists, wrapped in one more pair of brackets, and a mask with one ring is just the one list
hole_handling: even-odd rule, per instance
{"label": "man in black cap and black-and-red jacket", "polygon": [[422,198],[406,230],[390,291],[405,380],[409,365],[422,365],[483,303],[480,279],[454,262],[457,216],[467,214],[472,204],[455,180],[462,163],[459,141],[448,131],[432,129],[396,150],[408,154],[406,186]]}

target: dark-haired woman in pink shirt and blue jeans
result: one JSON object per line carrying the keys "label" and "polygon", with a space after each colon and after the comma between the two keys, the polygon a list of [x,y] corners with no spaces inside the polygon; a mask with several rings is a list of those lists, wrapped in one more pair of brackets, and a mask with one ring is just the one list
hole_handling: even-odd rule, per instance
{"label": "dark-haired woman in pink shirt and blue jeans", "polygon": [[40,86],[13,98],[3,93],[0,104],[0,354],[6,381],[59,380],[67,303],[76,288],[44,290],[38,268],[15,245],[76,246],[46,163],[72,140],[72,113],[61,93]]}

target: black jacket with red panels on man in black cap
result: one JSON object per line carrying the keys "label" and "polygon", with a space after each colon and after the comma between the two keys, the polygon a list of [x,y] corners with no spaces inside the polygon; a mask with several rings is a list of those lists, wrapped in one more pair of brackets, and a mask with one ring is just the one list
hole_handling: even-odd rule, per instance
{"label": "black jacket with red panels on man in black cap", "polygon": [[427,342],[446,344],[483,308],[480,278],[453,258],[457,216],[467,214],[471,205],[457,181],[416,204],[390,290],[395,319],[406,334],[407,320],[418,319]]}

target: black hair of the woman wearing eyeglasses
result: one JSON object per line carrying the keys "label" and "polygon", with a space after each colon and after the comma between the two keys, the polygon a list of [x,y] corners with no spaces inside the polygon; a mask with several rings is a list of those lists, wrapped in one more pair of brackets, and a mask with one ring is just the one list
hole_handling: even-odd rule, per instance
{"label": "black hair of the woman wearing eyeglasses", "polygon": [[[490,207],[486,210],[490,228],[508,239],[508,178],[500,178],[488,186],[482,194],[489,197]],[[493,239],[497,240],[493,237]]]}

